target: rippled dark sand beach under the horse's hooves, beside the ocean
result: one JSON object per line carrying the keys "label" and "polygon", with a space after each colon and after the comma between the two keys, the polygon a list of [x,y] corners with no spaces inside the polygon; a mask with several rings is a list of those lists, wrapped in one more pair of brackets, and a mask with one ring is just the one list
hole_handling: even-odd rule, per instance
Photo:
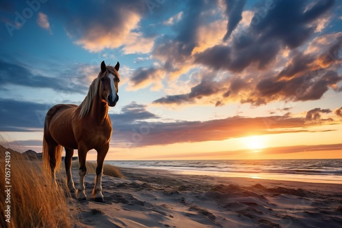
{"label": "rippled dark sand beach under the horse's hooves, beside the ocean", "polygon": [[[181,175],[121,168],[103,175],[105,203],[67,195],[73,227],[341,227],[342,185]],[[60,177],[64,175],[59,173]],[[73,169],[78,184],[77,169]],[[60,179],[61,180],[61,179]]]}

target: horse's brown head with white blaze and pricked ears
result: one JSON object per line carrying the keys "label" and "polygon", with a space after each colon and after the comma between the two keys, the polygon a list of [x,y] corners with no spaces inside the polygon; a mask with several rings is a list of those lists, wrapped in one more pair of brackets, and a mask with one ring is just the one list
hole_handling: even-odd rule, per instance
{"label": "horse's brown head with white blaze and pricked ears", "polygon": [[105,61],[101,63],[101,82],[100,82],[100,96],[105,100],[109,106],[115,106],[119,100],[118,83],[120,81],[119,74],[120,63],[116,63],[115,67],[106,66]]}

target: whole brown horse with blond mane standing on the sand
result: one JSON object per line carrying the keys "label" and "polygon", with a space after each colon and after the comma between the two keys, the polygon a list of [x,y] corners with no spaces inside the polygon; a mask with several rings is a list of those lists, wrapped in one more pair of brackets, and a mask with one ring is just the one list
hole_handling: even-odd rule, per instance
{"label": "whole brown horse with blond mane standing on the sand", "polygon": [[51,171],[55,182],[55,170],[59,169],[62,160],[62,147],[65,148],[66,182],[70,192],[75,190],[71,176],[71,160],[74,149],[79,154],[79,186],[77,199],[86,199],[84,176],[86,175],[86,156],[90,149],[96,149],[97,167],[95,186],[92,197],[103,202],[101,179],[103,160],[109,149],[111,139],[111,121],[108,106],[115,106],[119,100],[118,73],[120,63],[115,67],[101,63],[101,72],[90,85],[88,95],[77,106],[74,104],[57,104],[47,112],[44,124],[42,154],[44,167]]}

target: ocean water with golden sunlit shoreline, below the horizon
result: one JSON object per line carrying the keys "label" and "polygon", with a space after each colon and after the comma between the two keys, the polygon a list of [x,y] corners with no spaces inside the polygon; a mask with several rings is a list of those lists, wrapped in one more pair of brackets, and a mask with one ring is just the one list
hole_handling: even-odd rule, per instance
{"label": "ocean water with golden sunlit shoreline, below the horizon", "polygon": [[342,159],[111,160],[106,163],[118,167],[164,169],[192,175],[342,184]]}

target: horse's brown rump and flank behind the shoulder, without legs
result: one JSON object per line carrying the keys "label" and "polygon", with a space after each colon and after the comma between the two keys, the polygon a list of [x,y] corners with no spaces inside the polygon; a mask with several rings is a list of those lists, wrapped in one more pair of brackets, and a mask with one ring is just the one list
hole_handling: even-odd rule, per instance
{"label": "horse's brown rump and flank behind the shoulder, without legs", "polygon": [[[56,104],[47,112],[45,126],[46,137],[51,137],[53,141],[69,148],[77,149],[77,142],[73,133],[73,119],[77,105],[75,104]],[[44,130],[45,131],[45,130]]]}

